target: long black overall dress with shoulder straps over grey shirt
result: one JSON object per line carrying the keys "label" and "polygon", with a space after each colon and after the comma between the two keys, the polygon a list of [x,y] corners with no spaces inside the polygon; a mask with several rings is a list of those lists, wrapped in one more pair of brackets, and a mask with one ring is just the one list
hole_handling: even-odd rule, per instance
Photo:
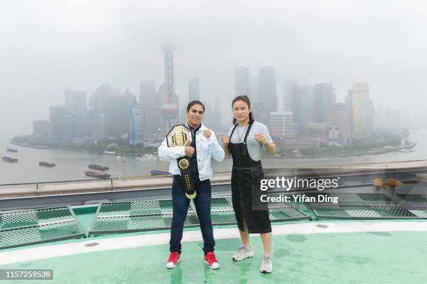
{"label": "long black overall dress with shoulder straps over grey shirt", "polygon": [[[233,128],[231,137],[233,136]],[[237,226],[244,231],[244,222],[249,233],[271,232],[269,208],[260,197],[267,191],[260,190],[264,178],[261,161],[254,161],[248,152],[246,139],[252,123],[249,124],[243,143],[228,143],[228,150],[233,157],[232,169],[232,203],[236,214]]]}

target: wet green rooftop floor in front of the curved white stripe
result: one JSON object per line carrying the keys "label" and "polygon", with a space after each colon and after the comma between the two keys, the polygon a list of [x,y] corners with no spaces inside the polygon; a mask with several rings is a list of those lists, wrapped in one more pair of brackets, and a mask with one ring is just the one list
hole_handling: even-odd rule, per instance
{"label": "wet green rooftop floor in front of the curved white stripe", "polygon": [[[290,232],[292,234],[292,232]],[[53,269],[53,281],[0,283],[426,283],[427,232],[353,232],[273,237],[274,271],[261,274],[260,237],[253,258],[234,262],[239,239],[218,239],[220,269],[202,261],[202,242],[183,243],[181,262],[167,269],[167,244],[3,265]]]}

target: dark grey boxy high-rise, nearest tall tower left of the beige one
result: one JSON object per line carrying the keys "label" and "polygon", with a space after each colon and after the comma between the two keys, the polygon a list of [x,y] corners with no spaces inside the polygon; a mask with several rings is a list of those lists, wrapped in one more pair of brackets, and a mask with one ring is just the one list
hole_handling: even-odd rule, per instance
{"label": "dark grey boxy high-rise, nearest tall tower left of the beige one", "polygon": [[326,123],[328,112],[336,102],[336,95],[332,84],[315,84],[315,122]]}

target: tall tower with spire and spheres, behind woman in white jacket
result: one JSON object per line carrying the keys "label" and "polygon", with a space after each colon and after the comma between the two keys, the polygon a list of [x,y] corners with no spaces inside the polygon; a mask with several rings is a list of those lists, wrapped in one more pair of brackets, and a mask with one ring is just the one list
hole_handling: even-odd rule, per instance
{"label": "tall tower with spire and spheres, behind woman in white jacket", "polygon": [[179,119],[179,98],[174,91],[174,52],[171,48],[163,49],[165,53],[165,83],[160,87],[160,115],[162,123],[156,140],[161,134],[166,135]]}

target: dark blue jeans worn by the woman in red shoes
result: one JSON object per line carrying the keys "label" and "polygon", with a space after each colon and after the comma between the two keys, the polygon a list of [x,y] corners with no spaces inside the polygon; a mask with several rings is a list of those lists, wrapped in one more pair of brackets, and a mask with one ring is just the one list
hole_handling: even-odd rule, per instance
{"label": "dark blue jeans worn by the woman in red shoes", "polygon": [[[203,180],[195,182],[197,196],[193,199],[196,207],[197,218],[200,221],[200,230],[203,237],[203,251],[208,253],[213,251],[215,240],[213,239],[213,228],[211,220],[211,181]],[[170,226],[170,252],[177,251],[181,253],[181,239],[183,232],[183,223],[186,220],[188,205],[190,199],[186,198],[183,184],[179,175],[174,175],[172,183],[172,206],[174,214]]]}

